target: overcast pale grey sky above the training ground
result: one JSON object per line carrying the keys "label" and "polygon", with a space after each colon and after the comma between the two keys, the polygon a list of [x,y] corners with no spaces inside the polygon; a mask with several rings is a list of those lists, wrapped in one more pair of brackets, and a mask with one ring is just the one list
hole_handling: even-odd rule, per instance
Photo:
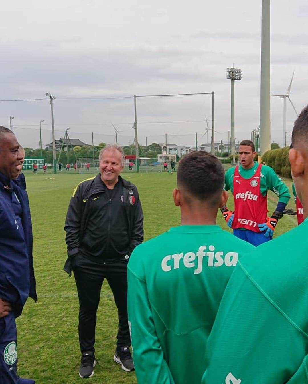
{"label": "overcast pale grey sky above the training ground", "polygon": [[[0,124],[12,120],[20,143],[51,142],[48,91],[54,101],[56,139],[91,144],[133,141],[134,94],[215,93],[216,141],[230,129],[226,68],[243,70],[235,84],[235,136],[249,138],[260,121],[261,0],[11,1],[1,7]],[[271,93],[286,93],[298,113],[308,103],[308,3],[272,0]],[[65,100],[66,98],[66,100]],[[102,98],[102,100],[67,100]],[[104,99],[105,98],[105,99]],[[272,141],[282,144],[283,101],[272,97]],[[138,98],[140,144],[206,142],[211,96]],[[287,142],[296,118],[287,101]],[[210,135],[209,135],[210,140]]]}

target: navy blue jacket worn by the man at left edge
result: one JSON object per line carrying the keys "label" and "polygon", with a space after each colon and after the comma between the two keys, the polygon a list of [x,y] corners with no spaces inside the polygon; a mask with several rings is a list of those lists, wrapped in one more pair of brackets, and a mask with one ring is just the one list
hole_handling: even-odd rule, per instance
{"label": "navy blue jacket worn by the man at left edge", "polygon": [[28,194],[0,172],[0,297],[18,317],[28,296],[37,300]]}

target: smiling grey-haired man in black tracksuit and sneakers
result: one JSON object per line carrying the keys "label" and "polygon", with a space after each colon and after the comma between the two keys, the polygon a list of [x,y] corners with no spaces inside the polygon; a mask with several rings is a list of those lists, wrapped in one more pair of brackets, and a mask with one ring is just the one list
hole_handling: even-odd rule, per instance
{"label": "smiling grey-haired man in black tracksuit and sneakers", "polygon": [[119,312],[114,361],[133,371],[127,317],[127,263],[143,241],[143,213],[135,185],[120,177],[124,153],[117,145],[100,152],[100,173],[75,188],[64,230],[68,260],[79,297],[80,377],[91,377],[95,366],[96,311],[100,289],[107,279]]}

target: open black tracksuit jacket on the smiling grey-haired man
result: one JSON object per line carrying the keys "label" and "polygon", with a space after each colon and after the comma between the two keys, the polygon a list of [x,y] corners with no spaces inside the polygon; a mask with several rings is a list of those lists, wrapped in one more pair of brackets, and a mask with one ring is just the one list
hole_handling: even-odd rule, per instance
{"label": "open black tracksuit jacket on the smiling grey-haired man", "polygon": [[[125,208],[128,237],[130,239],[129,250],[127,253],[130,255],[133,249],[143,242],[143,212],[137,187],[120,176],[119,181],[123,186],[123,203],[119,201],[119,204],[124,204]],[[71,201],[69,202],[64,226],[68,249],[68,259],[64,265],[64,271],[69,273],[69,275],[72,271],[71,258],[79,252],[79,246],[86,233],[87,222],[91,212],[91,204],[93,204],[93,197],[95,196],[95,198],[97,198],[105,193],[105,186],[100,179],[100,174],[96,175],[94,178],[82,181],[74,189]],[[123,227],[121,222],[116,223],[116,225],[119,225],[119,229]],[[121,238],[119,238],[119,243],[120,242]],[[91,252],[91,250],[89,251]]]}

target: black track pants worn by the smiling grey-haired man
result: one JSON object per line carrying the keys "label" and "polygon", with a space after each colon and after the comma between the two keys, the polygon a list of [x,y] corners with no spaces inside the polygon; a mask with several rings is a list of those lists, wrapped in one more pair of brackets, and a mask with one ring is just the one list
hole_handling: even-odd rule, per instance
{"label": "black track pants worn by the smiling grey-haired man", "polygon": [[104,278],[114,295],[119,314],[117,346],[130,346],[127,316],[127,261],[113,262],[76,255],[72,259],[74,277],[79,297],[79,344],[81,353],[94,352],[96,311]]}

